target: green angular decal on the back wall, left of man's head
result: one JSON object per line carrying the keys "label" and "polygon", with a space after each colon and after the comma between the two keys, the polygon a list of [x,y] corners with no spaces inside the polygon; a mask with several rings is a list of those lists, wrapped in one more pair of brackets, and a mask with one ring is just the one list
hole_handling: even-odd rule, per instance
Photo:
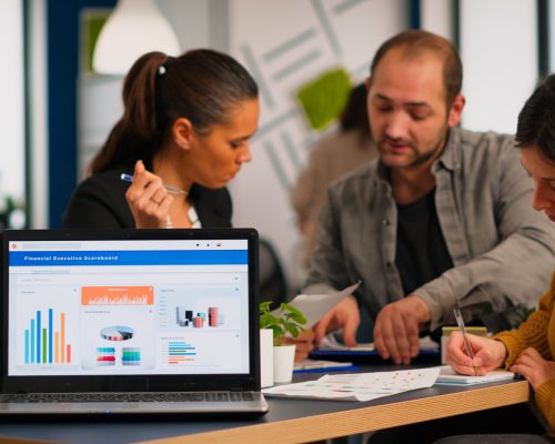
{"label": "green angular decal on the back wall, left of man's head", "polygon": [[351,90],[351,78],[343,69],[334,69],[305,83],[296,93],[309,124],[323,130],[341,114]]}

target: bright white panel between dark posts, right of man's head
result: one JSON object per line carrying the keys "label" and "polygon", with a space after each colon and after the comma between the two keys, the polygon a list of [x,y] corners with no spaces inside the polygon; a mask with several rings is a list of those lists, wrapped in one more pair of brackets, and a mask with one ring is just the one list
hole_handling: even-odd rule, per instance
{"label": "bright white panel between dark posts, right of man's head", "polygon": [[461,1],[462,124],[514,133],[537,81],[535,0]]}

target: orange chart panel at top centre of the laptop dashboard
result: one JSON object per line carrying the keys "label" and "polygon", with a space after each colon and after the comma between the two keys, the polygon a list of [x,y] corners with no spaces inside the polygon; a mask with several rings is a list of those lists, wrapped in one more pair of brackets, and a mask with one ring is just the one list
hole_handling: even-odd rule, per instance
{"label": "orange chart panel at top centre of the laptop dashboard", "polygon": [[83,286],[82,305],[152,305],[152,286]]}

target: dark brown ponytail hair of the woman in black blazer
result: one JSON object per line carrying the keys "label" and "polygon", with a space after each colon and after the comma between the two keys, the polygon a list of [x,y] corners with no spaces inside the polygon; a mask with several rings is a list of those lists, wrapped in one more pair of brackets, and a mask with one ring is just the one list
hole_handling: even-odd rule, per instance
{"label": "dark brown ponytail hair of the woman in black blazer", "polygon": [[139,159],[152,160],[175,119],[206,134],[225,124],[230,108],[256,99],[256,82],[232,57],[201,49],[178,58],[149,52],[131,67],[123,83],[123,117],[94,157],[90,174]]}

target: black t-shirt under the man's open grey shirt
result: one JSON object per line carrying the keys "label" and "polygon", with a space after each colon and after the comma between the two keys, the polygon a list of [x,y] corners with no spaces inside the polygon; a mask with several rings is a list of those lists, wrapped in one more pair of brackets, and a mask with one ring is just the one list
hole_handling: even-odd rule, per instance
{"label": "black t-shirt under the man's open grey shirt", "polygon": [[395,265],[405,295],[453,268],[434,198],[435,188],[415,202],[397,204]]}

